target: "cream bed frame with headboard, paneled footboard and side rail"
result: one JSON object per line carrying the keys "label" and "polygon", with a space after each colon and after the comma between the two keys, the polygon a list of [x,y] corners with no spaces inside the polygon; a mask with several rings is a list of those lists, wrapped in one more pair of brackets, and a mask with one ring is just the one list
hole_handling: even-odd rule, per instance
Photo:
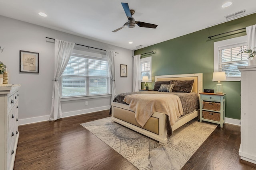
{"label": "cream bed frame with headboard, paneled footboard and side rail", "polygon": [[[156,82],[173,80],[194,80],[191,93],[196,93],[200,97],[199,93],[202,92],[202,73],[197,74],[176,74],[176,75],[163,75],[155,76]],[[146,93],[146,92],[144,92]],[[114,100],[115,101],[115,100]],[[168,136],[170,136],[170,125],[168,125],[168,115],[165,113],[154,111],[151,117],[148,119],[146,124],[142,127],[135,118],[135,113],[129,109],[128,104],[125,102],[112,102],[111,104],[111,114],[112,121],[124,125],[138,133],[146,135],[156,141],[161,145],[166,145],[168,141]],[[195,109],[190,113],[178,118],[173,125],[171,125],[171,130],[174,131],[180,126],[184,125],[188,121],[198,117],[199,109]]]}

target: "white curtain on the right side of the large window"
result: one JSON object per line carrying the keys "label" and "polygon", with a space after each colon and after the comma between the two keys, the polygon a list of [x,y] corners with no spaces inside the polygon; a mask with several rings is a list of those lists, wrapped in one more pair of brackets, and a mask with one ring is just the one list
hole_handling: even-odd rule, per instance
{"label": "white curtain on the right side of the large window", "polygon": [[116,97],[116,73],[115,73],[115,52],[107,51],[106,56],[108,60],[108,70],[111,78],[111,102]]}

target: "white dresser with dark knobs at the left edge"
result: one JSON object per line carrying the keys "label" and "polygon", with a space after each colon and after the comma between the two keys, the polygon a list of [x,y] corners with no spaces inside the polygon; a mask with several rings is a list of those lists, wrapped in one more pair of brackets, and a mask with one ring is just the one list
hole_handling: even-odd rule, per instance
{"label": "white dresser with dark knobs at the left edge", "polygon": [[18,145],[19,84],[0,84],[0,170],[13,170]]}

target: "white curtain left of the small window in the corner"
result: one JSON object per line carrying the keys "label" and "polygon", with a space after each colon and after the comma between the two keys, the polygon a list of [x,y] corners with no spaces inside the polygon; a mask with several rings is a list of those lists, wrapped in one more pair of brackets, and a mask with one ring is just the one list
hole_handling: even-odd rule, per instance
{"label": "white curtain left of the small window in the corner", "polygon": [[141,74],[141,71],[140,71],[140,54],[139,54],[133,57],[133,86],[132,86],[133,92],[138,92],[139,89],[141,89],[140,74]]}

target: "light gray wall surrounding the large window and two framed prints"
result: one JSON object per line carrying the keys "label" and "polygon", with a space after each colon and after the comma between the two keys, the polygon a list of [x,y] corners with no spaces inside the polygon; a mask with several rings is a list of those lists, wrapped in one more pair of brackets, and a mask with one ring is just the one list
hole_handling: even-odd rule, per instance
{"label": "light gray wall surrounding the large window and two framed prints", "polygon": [[[19,101],[20,124],[48,120],[50,114],[52,79],[54,77],[54,43],[47,42],[50,40],[45,37],[118,52],[115,65],[117,93],[132,91],[132,50],[4,16],[0,16],[0,23],[0,46],[4,47],[3,53],[0,53],[0,61],[6,64],[8,68],[9,83],[21,84]],[[39,53],[39,74],[19,72],[20,50]],[[120,77],[120,64],[127,64],[127,78]],[[88,106],[85,106],[85,101],[88,101]],[[108,109],[110,102],[111,100],[108,96],[104,98],[79,98],[79,100],[71,101],[62,100],[61,103],[64,116],[70,116]]]}

